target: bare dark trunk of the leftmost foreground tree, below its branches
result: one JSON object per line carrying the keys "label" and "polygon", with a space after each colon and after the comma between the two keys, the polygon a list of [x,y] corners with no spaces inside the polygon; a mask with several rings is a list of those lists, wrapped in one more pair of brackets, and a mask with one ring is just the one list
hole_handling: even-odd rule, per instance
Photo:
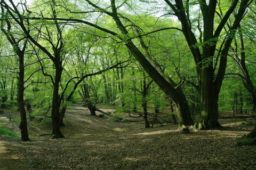
{"label": "bare dark trunk of the leftmost foreground tree, below its branches", "polygon": [[24,103],[24,55],[19,54],[18,108],[20,111],[21,141],[29,141],[27,115]]}

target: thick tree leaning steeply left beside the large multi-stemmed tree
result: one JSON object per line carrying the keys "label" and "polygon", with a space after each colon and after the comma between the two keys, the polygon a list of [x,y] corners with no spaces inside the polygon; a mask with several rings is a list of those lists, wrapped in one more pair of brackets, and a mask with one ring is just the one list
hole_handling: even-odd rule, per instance
{"label": "thick tree leaning steeply left beside the large multi-stemmed tree", "polygon": [[116,34],[113,31],[104,29],[99,26],[95,26],[90,24],[91,26],[101,29],[103,31],[106,31],[107,33],[117,36],[121,41],[124,42],[125,46],[129,49],[131,54],[139,61],[143,69],[148,73],[148,75],[158,84],[159,87],[162,88],[162,90],[167,94],[172,96],[173,101],[176,103],[177,108],[179,110],[179,126],[189,126],[193,125],[193,120],[191,119],[189,107],[187,100],[185,98],[185,95],[181,91],[181,88],[174,83],[174,81],[166,76],[164,74],[164,71],[161,69],[161,67],[158,66],[158,64],[151,58],[150,54],[147,51],[147,46],[145,45],[145,42],[143,41],[141,37],[141,33],[138,31],[136,26],[130,22],[129,19],[125,19],[125,21],[128,22],[128,26],[131,26],[133,30],[132,35],[135,34],[135,37],[138,38],[138,42],[141,45],[141,50],[134,45],[132,41],[131,33],[127,30],[127,27],[124,26],[124,23],[121,21],[122,15],[119,15],[117,12],[117,9],[119,7],[116,6],[115,1],[111,1],[111,12],[108,10],[103,9],[102,7],[97,6],[96,4],[93,4],[91,1],[87,1],[94,9],[104,12],[105,14],[109,15],[116,23],[116,26],[118,27],[121,34]]}

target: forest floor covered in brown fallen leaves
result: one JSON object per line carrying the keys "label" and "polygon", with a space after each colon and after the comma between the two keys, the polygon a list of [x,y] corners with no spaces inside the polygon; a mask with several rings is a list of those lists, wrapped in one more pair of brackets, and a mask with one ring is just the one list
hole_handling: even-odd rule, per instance
{"label": "forest floor covered in brown fallen leaves", "polygon": [[[188,134],[177,125],[145,129],[143,122],[108,119],[69,107],[61,127],[65,139],[50,139],[50,121],[28,120],[31,141],[0,136],[0,169],[256,169],[256,146],[235,146],[253,128],[253,118],[219,119],[221,131]],[[18,112],[5,111],[0,123],[19,134]]]}

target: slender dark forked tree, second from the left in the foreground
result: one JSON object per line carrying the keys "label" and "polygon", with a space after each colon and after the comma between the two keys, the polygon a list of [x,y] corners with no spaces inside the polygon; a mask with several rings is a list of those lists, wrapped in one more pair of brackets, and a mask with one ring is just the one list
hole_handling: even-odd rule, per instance
{"label": "slender dark forked tree, second from the left in the foreground", "polygon": [[[20,13],[18,7],[13,3],[13,1],[9,1],[11,5],[6,3],[5,1],[1,1],[1,5],[3,8],[6,9],[6,11],[11,15],[12,19],[15,20],[15,22],[18,23],[18,25],[21,27],[23,33],[26,35],[26,37],[29,39],[29,41],[33,44],[35,44],[36,47],[38,47],[41,51],[43,51],[52,61],[54,65],[54,76],[46,74],[43,70],[43,74],[45,76],[49,76],[52,80],[53,84],[53,99],[52,99],[52,138],[59,138],[64,137],[63,134],[60,132],[60,125],[59,125],[59,117],[60,117],[60,95],[59,95],[59,86],[61,81],[61,75],[62,75],[62,61],[64,59],[65,53],[63,51],[64,43],[63,43],[63,37],[62,37],[62,30],[63,25],[61,25],[57,20],[57,12],[55,10],[55,1],[52,0],[49,2],[50,5],[50,14],[54,18],[54,21],[51,23],[54,27],[49,27],[46,22],[42,22],[39,26],[39,28],[36,28],[36,25],[34,25],[35,30],[38,30],[38,36],[33,37],[33,34],[30,32],[30,28],[28,26],[29,21],[25,20],[23,17],[23,14]],[[27,14],[31,14],[31,11],[28,11],[26,4],[25,9],[27,10]],[[44,17],[43,12],[41,11],[41,17]],[[46,14],[47,15],[47,14]],[[43,28],[45,29],[45,32],[42,32]],[[54,29],[51,32],[50,29]],[[56,31],[56,37],[52,35]],[[38,38],[44,39],[48,44],[44,46],[43,42],[40,42]],[[47,49],[47,46],[50,44],[51,50]],[[39,56],[39,55],[38,55]],[[42,67],[43,69],[43,67]]]}

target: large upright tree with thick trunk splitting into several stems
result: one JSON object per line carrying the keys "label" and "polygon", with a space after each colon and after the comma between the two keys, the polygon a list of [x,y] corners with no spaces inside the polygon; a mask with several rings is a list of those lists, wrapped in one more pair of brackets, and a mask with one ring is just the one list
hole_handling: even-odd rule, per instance
{"label": "large upright tree with thick trunk splitting into several stems", "polygon": [[[216,12],[218,1],[198,1],[199,9],[203,17],[203,26],[199,25],[199,23],[201,23],[200,21],[198,21],[197,26],[200,33],[199,42],[197,41],[196,33],[193,33],[193,26],[190,20],[190,4],[193,3],[190,3],[190,1],[184,2],[175,0],[173,4],[169,0],[164,1],[178,17],[181,23],[182,33],[186,38],[196,64],[198,89],[201,96],[201,115],[194,127],[197,129],[219,128],[221,125],[218,122],[218,96],[225,76],[229,47],[234,38],[234,31],[236,31],[239,22],[243,19],[246,7],[252,1],[242,0],[241,3],[239,3],[239,9],[235,15],[233,24],[229,27],[225,41],[220,45],[217,52],[217,59],[220,58],[218,69],[215,67],[218,61],[214,61],[218,39],[227,21],[231,20],[230,15],[238,6],[238,0],[231,3],[226,13],[222,10],[219,23],[214,21],[216,14],[218,14]],[[217,71],[216,75],[214,71]]]}

